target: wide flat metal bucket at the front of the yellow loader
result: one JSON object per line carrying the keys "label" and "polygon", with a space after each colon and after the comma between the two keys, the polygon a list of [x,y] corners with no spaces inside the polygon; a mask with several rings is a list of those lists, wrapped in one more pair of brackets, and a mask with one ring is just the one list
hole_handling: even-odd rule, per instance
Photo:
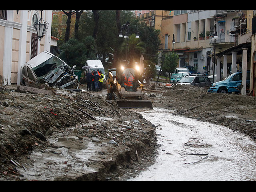
{"label": "wide flat metal bucket at the front of the yellow loader", "polygon": [[117,106],[120,108],[150,108],[153,109],[151,100],[116,100]]}

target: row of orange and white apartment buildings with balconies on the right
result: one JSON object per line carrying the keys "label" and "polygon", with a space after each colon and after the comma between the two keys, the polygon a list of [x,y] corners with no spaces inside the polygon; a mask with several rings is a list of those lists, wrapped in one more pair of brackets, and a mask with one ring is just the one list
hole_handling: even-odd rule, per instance
{"label": "row of orange and white apartment buildings with balconies on the right", "polygon": [[[255,94],[254,16],[256,12],[249,10],[174,11],[173,16],[162,19],[159,54],[174,50],[180,57],[177,67],[194,66],[208,75],[213,74],[215,64],[215,82],[242,70],[242,94],[246,78],[250,78],[250,91]],[[214,30],[218,36],[215,43]],[[246,70],[251,70],[250,77],[246,77]]]}

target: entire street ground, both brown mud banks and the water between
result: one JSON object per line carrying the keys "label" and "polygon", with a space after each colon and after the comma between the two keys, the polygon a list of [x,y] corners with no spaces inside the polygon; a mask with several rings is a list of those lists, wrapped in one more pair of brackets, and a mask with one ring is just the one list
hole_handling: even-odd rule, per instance
{"label": "entire street ground, both brown mud banks and the water between", "polygon": [[4,88],[1,181],[256,178],[255,97],[158,84],[153,110],[120,109],[106,89]]}

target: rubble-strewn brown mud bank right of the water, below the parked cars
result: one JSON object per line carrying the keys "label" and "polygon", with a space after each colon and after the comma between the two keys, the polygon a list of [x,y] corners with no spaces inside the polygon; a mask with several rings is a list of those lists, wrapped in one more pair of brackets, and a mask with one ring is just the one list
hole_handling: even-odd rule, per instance
{"label": "rubble-strewn brown mud bank right of the water, below the parked cars", "polygon": [[151,98],[154,107],[168,108],[175,115],[227,126],[252,138],[256,136],[255,97],[209,93],[207,87],[192,85],[171,88],[158,85],[156,90],[156,97]]}

